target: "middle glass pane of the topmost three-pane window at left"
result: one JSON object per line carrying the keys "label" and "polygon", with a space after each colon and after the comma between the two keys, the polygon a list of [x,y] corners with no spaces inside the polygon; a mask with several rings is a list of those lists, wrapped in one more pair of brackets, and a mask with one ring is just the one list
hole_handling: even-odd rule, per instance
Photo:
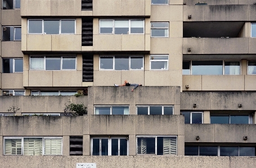
{"label": "middle glass pane of the topmost three-pane window at left", "polygon": [[60,21],[59,20],[44,20],[44,34],[59,34]]}

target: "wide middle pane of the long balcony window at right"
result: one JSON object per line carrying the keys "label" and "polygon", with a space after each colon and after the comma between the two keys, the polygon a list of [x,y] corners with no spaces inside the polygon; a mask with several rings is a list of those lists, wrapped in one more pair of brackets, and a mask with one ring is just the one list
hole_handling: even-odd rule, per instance
{"label": "wide middle pane of the long balcony window at right", "polygon": [[192,61],[192,75],[222,75],[222,61]]}

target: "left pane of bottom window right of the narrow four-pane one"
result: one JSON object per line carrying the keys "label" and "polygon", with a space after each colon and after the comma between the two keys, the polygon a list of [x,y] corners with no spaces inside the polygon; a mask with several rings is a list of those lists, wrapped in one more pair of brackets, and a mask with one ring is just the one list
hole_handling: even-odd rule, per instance
{"label": "left pane of bottom window right of the narrow four-pane one", "polygon": [[138,154],[155,154],[155,138],[137,138]]}

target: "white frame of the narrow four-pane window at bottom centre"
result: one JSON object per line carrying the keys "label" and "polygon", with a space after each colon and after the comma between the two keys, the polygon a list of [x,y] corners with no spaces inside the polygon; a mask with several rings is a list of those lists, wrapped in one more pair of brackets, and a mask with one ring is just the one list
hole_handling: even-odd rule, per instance
{"label": "white frame of the narrow four-pane window at bottom centre", "polygon": [[[92,137],[91,138],[91,156],[92,152],[93,152],[93,139],[100,139],[100,155],[101,156],[101,139],[108,139],[107,141],[107,148],[108,148],[108,152],[107,152],[107,156],[112,156],[111,153],[111,139],[118,139],[118,156],[120,156],[120,139],[126,139],[127,140],[127,155],[125,156],[129,156],[129,138],[128,137]],[[95,155],[94,155],[95,156]],[[96,155],[98,156],[98,155]]]}

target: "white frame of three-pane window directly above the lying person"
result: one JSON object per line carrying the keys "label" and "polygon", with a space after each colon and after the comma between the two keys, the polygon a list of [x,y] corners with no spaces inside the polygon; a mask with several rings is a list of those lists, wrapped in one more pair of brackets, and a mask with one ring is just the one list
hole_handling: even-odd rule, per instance
{"label": "white frame of three-pane window directly above the lying person", "polygon": [[[110,71],[110,70],[113,70],[113,71],[141,71],[141,70],[144,70],[144,58],[145,57],[143,55],[116,55],[116,56],[127,56],[127,57],[129,57],[129,69],[128,70],[115,70],[115,56],[105,56],[105,55],[102,55],[99,58],[99,61],[98,61],[99,70],[100,71]],[[101,69],[101,57],[113,57],[113,69]],[[142,57],[142,60],[143,60],[142,69],[131,69],[131,57]]]}

